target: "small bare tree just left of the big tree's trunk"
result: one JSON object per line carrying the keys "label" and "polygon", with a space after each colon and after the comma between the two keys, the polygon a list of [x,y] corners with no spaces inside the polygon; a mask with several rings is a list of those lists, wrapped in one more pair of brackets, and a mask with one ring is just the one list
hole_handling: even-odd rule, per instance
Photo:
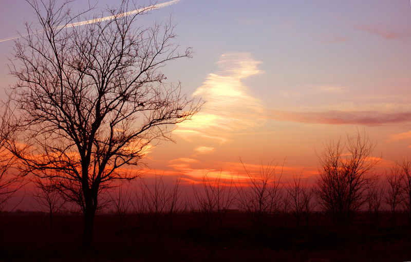
{"label": "small bare tree just left of the big tree's trunk", "polygon": [[65,199],[61,196],[54,179],[34,177],[32,182],[34,188],[31,195],[39,204],[38,207],[34,208],[39,211],[44,211],[48,215],[50,230],[53,230],[53,218],[62,211]]}

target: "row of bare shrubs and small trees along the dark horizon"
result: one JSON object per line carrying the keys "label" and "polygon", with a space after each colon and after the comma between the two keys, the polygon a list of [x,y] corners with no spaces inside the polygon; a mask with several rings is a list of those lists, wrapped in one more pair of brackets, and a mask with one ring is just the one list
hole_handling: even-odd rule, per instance
{"label": "row of bare shrubs and small trees along the dark horizon", "polygon": [[[364,142],[370,145],[369,140]],[[342,151],[341,154],[347,155]],[[340,160],[348,165],[346,158]],[[369,165],[377,162],[364,159],[363,163],[371,170]],[[282,167],[273,162],[261,164],[258,173],[249,172],[244,165],[245,177],[206,173],[191,186],[182,185],[181,176],[167,183],[164,175],[156,174],[150,183],[145,179],[124,182],[101,194],[98,213],[116,214],[120,227],[126,216],[136,215],[141,225],[153,229],[164,225],[164,221],[173,227],[176,216],[182,213],[192,214],[191,218],[206,231],[221,230],[227,225],[227,214],[233,213],[246,214],[249,224],[257,230],[275,226],[278,217],[285,226],[308,226],[314,213],[327,215],[338,226],[348,226],[359,214],[367,219],[366,223],[376,226],[380,225],[382,214],[389,217],[393,228],[397,227],[398,216],[408,217],[411,225],[411,160],[404,158],[379,175],[373,171],[348,172],[347,167],[331,172],[324,163],[322,168],[323,173],[313,185],[308,184],[303,173],[285,178]],[[363,169],[364,166],[359,168]],[[36,210],[49,216],[50,228],[57,214],[81,213],[52,180],[34,180],[34,190],[29,195],[38,204]]]}

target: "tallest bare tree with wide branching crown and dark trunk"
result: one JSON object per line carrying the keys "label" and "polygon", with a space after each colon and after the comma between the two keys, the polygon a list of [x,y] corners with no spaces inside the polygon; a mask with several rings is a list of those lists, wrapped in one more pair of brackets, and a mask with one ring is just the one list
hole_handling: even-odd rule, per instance
{"label": "tallest bare tree with wide branching crown and dark trunk", "polygon": [[[88,17],[92,23],[72,26],[86,12],[72,15],[71,1],[27,2],[39,27],[27,23],[27,36],[15,42],[13,126],[21,132],[9,149],[26,171],[58,177],[76,199],[85,220],[82,247],[89,248],[99,194],[115,179],[135,178],[138,173],[123,171],[138,166],[158,139],[171,140],[171,126],[199,110],[160,71],[191,50],[178,52],[170,21],[136,26],[153,7],[124,0]],[[124,15],[130,9],[138,11]],[[101,19],[106,16],[111,19]]]}

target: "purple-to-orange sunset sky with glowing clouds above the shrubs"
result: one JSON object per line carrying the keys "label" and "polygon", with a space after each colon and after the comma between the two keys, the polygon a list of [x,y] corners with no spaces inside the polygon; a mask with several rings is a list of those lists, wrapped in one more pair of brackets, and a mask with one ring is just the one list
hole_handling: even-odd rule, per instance
{"label": "purple-to-orange sunset sky with glowing clouds above the shrubs", "polygon": [[[177,126],[175,143],[146,155],[152,172],[191,182],[207,172],[244,173],[241,161],[258,172],[274,160],[284,178],[302,172],[313,182],[324,144],[358,131],[376,142],[379,172],[411,157],[408,0],[182,0],[141,24],[170,14],[177,41],[194,55],[162,71],[206,103]],[[22,32],[24,21],[35,21],[25,1],[0,0],[0,39]],[[16,82],[7,67],[12,45],[0,42],[2,98]]]}

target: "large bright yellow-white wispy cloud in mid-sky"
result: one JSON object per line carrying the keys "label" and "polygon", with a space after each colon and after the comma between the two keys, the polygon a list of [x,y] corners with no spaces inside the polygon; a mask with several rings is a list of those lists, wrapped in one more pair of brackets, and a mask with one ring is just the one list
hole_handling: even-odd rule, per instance
{"label": "large bright yellow-white wispy cloud in mid-sky", "polygon": [[178,125],[175,134],[227,140],[230,134],[265,123],[262,102],[252,96],[243,80],[263,73],[249,53],[227,53],[217,62],[220,71],[207,76],[193,93],[206,103],[191,121]]}

